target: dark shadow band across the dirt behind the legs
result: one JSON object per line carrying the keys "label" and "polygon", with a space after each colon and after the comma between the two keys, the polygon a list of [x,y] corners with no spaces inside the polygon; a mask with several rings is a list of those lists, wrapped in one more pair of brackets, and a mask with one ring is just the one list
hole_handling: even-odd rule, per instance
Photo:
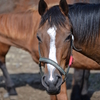
{"label": "dark shadow band across the dirt behind the legs", "polygon": [[[15,87],[21,87],[29,85],[32,88],[39,89],[39,90],[45,90],[45,88],[41,84],[41,76],[40,73],[20,73],[20,74],[10,74]],[[68,75],[68,80],[66,82],[67,89],[71,89],[71,83],[72,83],[72,76],[73,74]],[[89,96],[91,97],[92,94],[96,91],[100,90],[100,74],[99,73],[92,73],[89,78]],[[0,87],[5,88],[5,84],[3,81],[3,77],[0,76]]]}

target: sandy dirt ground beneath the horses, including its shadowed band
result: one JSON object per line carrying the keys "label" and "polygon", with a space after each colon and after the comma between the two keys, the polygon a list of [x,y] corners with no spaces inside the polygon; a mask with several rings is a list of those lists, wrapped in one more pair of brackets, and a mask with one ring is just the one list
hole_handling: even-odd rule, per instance
{"label": "sandy dirt ground beneath the horses, including its shadowed band", "polygon": [[[11,47],[6,56],[6,65],[10,76],[15,83],[18,93],[17,100],[50,100],[41,85],[38,65],[32,61],[29,53]],[[70,100],[71,82],[73,69],[70,70],[67,81],[68,97]],[[100,100],[100,72],[91,71],[89,78],[89,96],[91,100]],[[10,100],[6,98],[6,89],[4,88],[4,81],[2,72],[0,71],[0,100]]]}

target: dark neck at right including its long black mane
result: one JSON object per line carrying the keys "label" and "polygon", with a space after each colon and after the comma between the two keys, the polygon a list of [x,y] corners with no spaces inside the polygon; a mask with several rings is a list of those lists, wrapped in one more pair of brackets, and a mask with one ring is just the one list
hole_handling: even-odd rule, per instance
{"label": "dark neck at right including its long black mane", "polygon": [[100,63],[100,4],[74,4],[69,6],[74,44],[82,54]]}

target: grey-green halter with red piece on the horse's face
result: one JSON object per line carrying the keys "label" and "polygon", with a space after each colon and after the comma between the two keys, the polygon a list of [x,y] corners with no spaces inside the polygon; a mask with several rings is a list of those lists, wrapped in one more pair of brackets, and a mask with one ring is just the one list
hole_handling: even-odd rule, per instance
{"label": "grey-green halter with red piece on the horse's face", "polygon": [[72,50],[75,49],[76,51],[79,51],[78,49],[75,48],[73,42],[74,42],[74,36],[71,34],[71,53],[70,53],[69,64],[68,64],[68,68],[67,68],[66,72],[62,69],[61,66],[59,66],[53,60],[51,60],[49,58],[44,58],[44,57],[41,56],[41,53],[40,53],[40,43],[39,43],[39,56],[40,56],[40,58],[39,58],[39,68],[40,68],[40,74],[41,74],[41,76],[43,76],[43,71],[42,71],[42,68],[41,68],[41,62],[43,62],[43,63],[48,63],[48,64],[53,65],[61,73],[61,75],[65,76],[62,84],[67,80],[69,69],[70,69],[70,66],[72,65],[72,62],[73,62]]}

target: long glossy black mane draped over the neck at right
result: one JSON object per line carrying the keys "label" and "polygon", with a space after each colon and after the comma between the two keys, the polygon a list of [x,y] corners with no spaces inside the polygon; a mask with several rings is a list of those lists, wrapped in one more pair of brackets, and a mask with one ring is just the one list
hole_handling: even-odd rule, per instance
{"label": "long glossy black mane draped over the neck at right", "polygon": [[78,43],[94,43],[100,32],[100,4],[77,3],[69,6],[69,18]]}

